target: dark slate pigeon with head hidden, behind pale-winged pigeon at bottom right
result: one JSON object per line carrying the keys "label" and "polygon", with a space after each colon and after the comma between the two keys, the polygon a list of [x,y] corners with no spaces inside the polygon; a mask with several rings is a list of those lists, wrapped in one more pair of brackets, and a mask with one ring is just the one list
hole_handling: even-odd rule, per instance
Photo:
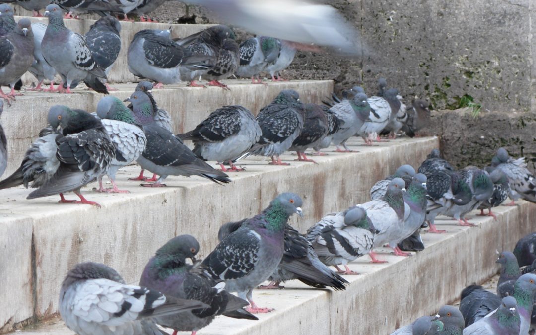
{"label": "dark slate pigeon with head hidden, behind pale-winged pigeon at bottom right", "polygon": [[461,291],[460,311],[469,326],[489,314],[501,304],[501,297],[482,286],[470,285]]}

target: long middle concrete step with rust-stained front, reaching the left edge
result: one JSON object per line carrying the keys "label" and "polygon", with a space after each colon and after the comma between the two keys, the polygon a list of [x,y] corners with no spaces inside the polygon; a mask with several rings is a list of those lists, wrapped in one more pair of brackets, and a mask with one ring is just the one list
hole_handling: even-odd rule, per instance
{"label": "long middle concrete step with rust-stained front, reaching the left edge", "polygon": [[[251,217],[283,191],[303,197],[305,217],[293,218],[291,224],[304,232],[326,213],[367,201],[377,180],[404,163],[418,166],[438,146],[437,138],[403,138],[372,147],[362,146],[357,138],[349,142],[360,152],[315,157],[318,164],[269,166],[263,158],[248,158],[241,161],[247,170],[231,173],[233,182],[225,186],[200,177],[170,176],[167,188],[141,188],[126,181],[137,175],[139,168],[126,167],[118,173],[117,182],[131,193],[101,195],[91,191],[95,184],[83,190],[88,199],[102,205],[101,209],[59,205],[56,196],[27,200],[29,191],[22,187],[1,190],[0,268],[5,271],[0,272],[0,330],[9,331],[14,324],[34,323],[57,312],[63,277],[78,262],[109,264],[126,282],[136,282],[147,260],[170,237],[195,235],[202,245],[202,258],[217,244],[216,232],[222,223]],[[293,160],[295,156],[287,154],[282,159]],[[321,308],[331,300],[318,295],[325,294],[322,292],[307,290],[303,294]],[[353,299],[352,290],[348,292],[340,295],[340,303]],[[358,308],[359,304],[353,306]],[[348,315],[344,309],[339,312]],[[305,320],[302,318],[303,327],[309,329]]]}

